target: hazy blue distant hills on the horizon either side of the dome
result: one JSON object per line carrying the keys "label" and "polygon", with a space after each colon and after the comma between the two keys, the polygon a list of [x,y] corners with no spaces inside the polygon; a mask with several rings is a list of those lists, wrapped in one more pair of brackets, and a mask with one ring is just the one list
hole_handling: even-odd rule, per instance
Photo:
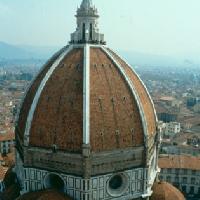
{"label": "hazy blue distant hills on the horizon either side of the dome", "polygon": [[[0,41],[0,61],[7,60],[47,60],[61,46],[15,46]],[[192,67],[200,66],[200,59],[184,58],[181,56],[170,57],[163,55],[151,55],[132,51],[118,51],[131,65],[136,66],[174,66],[174,67]]]}

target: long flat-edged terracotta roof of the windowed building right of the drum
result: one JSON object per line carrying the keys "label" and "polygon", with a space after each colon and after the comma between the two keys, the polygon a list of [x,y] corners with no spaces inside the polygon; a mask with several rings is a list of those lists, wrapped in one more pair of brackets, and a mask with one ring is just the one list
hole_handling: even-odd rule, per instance
{"label": "long flat-edged terracotta roof of the windowed building right of the drum", "polygon": [[161,169],[200,170],[200,158],[190,155],[165,155],[159,158]]}

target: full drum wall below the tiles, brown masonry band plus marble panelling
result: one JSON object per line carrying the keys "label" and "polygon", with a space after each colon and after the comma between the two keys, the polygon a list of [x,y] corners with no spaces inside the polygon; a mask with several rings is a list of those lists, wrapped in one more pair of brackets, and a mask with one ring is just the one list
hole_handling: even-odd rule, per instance
{"label": "full drum wall below the tiles, brown masonry band plus marble panelling", "polygon": [[[23,156],[19,154],[18,150],[16,150],[15,172],[19,183],[21,184],[21,193],[24,194],[30,191],[38,191],[49,188],[49,185],[51,185],[49,177],[55,175],[63,183],[62,191],[70,195],[75,200],[148,199],[148,197],[152,194],[151,188],[158,172],[158,149],[156,145],[153,145],[154,143],[155,139],[149,141],[149,151],[146,155],[146,165],[144,165],[145,161],[142,159],[143,156],[141,154],[141,152],[144,152],[144,148],[141,147],[127,149],[127,152],[125,150],[121,150],[121,153],[113,151],[109,153],[109,155],[105,155],[103,153],[102,156],[96,155],[97,158],[93,157],[93,155],[90,163],[92,168],[89,169],[93,169],[94,161],[97,162],[94,164],[95,166],[99,166],[99,170],[95,171],[95,173],[91,171],[92,173],[89,173],[89,176],[84,176],[85,178],[82,178],[84,173],[84,158],[82,158],[81,155],[52,152],[52,150],[38,148],[25,148]],[[137,162],[139,159],[137,159],[137,156],[139,156],[142,160]],[[130,161],[129,157],[133,158],[133,160],[131,159]],[[100,163],[98,163],[98,159],[99,161],[101,160]],[[119,160],[116,162],[116,159]],[[79,162],[80,169],[82,167],[82,171],[80,172],[79,168],[77,168],[75,169],[75,172],[78,173],[70,173],[73,170],[71,170],[70,167],[67,167],[68,165],[64,166],[66,168],[63,169],[63,163],[60,165],[61,160],[63,160],[63,162],[68,161],[71,164]],[[125,167],[128,166],[126,163],[127,160],[133,165],[129,168],[129,170],[125,169]],[[110,163],[108,166],[106,165],[108,170],[105,170],[103,165],[105,162]],[[50,167],[46,164],[44,165],[44,163],[48,164]],[[136,165],[135,163],[138,164]],[[111,168],[112,172],[110,171]],[[76,176],[73,174],[76,174]],[[122,177],[123,184],[119,187],[119,189],[117,188],[117,190],[113,190],[110,188],[110,182],[116,175],[120,175]]]}

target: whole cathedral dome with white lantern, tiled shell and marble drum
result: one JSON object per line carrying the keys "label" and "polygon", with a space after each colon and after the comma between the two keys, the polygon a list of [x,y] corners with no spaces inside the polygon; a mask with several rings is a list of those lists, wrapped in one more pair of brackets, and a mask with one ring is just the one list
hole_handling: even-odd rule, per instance
{"label": "whole cathedral dome with white lantern, tiled shell and marble drum", "polygon": [[105,46],[91,0],[76,18],[69,45],[22,102],[13,169],[19,199],[149,200],[161,141],[153,101],[133,68]]}

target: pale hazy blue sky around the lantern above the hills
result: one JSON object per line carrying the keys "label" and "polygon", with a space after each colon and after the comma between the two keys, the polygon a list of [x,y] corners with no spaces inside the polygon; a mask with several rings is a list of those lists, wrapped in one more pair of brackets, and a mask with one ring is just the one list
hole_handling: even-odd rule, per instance
{"label": "pale hazy blue sky around the lantern above the hills", "polygon": [[[0,41],[65,45],[81,0],[0,0]],[[200,54],[200,0],[93,0],[109,46],[137,52]]]}

